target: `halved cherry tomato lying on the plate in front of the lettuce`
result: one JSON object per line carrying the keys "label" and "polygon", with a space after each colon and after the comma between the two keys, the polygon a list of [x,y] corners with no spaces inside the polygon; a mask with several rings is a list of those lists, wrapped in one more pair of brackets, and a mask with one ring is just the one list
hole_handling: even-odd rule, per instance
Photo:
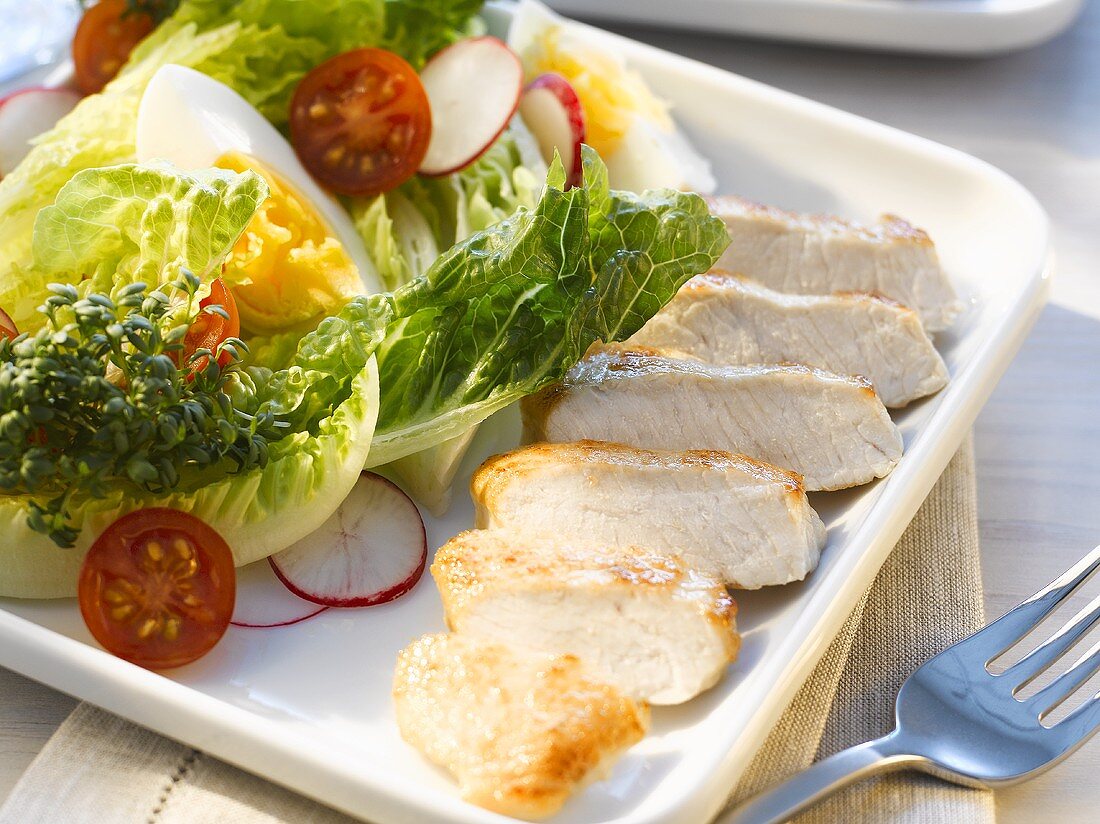
{"label": "halved cherry tomato lying on the plate in front of the lettuce", "polygon": [[123,515],[96,539],[77,589],[80,614],[109,652],[146,669],[201,658],[233,616],[233,553],[177,509]]}

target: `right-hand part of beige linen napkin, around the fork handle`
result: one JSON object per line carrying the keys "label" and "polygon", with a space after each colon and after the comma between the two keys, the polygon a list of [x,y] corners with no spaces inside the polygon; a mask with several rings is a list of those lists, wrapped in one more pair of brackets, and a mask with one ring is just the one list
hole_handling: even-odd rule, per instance
{"label": "right-hand part of beige linen napkin, around the fork handle", "polygon": [[[888,733],[909,674],[982,623],[974,442],[967,438],[732,798]],[[991,792],[893,773],[856,783],[795,821],[991,824],[994,817]]]}

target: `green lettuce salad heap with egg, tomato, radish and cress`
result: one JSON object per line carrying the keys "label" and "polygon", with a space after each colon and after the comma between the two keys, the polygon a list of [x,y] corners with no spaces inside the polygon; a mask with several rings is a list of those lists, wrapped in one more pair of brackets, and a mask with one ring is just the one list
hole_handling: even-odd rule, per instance
{"label": "green lettuce salad heap with egg, tomato, radish and cress", "polygon": [[[237,565],[317,529],[364,468],[441,508],[479,424],[715,262],[702,197],[613,187],[645,177],[616,154],[631,118],[674,129],[640,79],[608,95],[552,26],[513,50],[480,11],[88,10],[84,94],[0,182],[0,595],[75,594],[89,547],[153,507]],[[591,141],[517,113],[547,70]]]}

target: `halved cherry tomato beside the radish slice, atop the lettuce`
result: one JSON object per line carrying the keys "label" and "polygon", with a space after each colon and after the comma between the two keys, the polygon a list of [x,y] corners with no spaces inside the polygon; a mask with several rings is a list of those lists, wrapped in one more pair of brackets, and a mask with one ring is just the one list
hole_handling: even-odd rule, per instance
{"label": "halved cherry tomato beside the radish slice, atop the lettuce", "polygon": [[318,183],[377,195],[420,167],[431,108],[416,70],[384,48],[344,52],[306,75],[290,101],[290,142]]}

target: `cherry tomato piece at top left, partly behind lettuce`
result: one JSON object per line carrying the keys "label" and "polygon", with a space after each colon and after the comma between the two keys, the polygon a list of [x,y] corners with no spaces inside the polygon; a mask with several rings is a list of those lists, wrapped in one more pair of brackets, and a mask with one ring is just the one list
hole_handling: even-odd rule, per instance
{"label": "cherry tomato piece at top left, partly behind lettuce", "polygon": [[127,0],[100,0],[80,18],[73,35],[76,85],[86,95],[114,79],[134,46],[156,28],[152,15]]}

